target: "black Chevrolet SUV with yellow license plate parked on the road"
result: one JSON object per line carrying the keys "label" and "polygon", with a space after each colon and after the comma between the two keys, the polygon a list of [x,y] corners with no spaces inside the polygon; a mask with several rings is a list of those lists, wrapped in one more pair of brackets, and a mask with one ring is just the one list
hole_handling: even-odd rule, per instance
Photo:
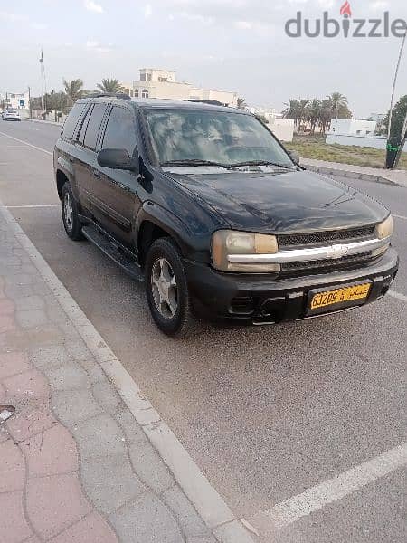
{"label": "black Chevrolet SUV with yellow license plate parked on the road", "polygon": [[398,269],[391,214],[299,167],[246,111],[78,100],[54,168],[66,233],[144,278],[169,335],[194,315],[260,325],[361,306]]}

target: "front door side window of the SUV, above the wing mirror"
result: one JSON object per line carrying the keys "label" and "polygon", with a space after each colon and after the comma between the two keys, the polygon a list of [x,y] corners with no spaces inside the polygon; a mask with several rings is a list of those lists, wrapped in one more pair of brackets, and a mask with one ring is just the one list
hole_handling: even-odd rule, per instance
{"label": "front door side window of the SUV, above the wing mirror", "polygon": [[131,157],[136,145],[136,128],[131,111],[114,107],[110,112],[103,148],[127,149]]}

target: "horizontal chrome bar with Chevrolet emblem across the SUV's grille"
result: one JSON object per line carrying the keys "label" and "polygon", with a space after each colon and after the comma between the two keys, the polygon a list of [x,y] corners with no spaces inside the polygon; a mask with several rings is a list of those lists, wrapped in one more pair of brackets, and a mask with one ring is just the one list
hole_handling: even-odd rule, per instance
{"label": "horizontal chrome bar with Chevrolet emblem across the SUV's grille", "polygon": [[383,240],[374,239],[355,243],[336,243],[327,247],[279,251],[275,254],[229,254],[228,261],[239,264],[283,264],[285,262],[308,262],[328,259],[335,261],[344,256],[352,256],[360,252],[370,252],[380,249],[389,242],[390,238],[388,237]]}

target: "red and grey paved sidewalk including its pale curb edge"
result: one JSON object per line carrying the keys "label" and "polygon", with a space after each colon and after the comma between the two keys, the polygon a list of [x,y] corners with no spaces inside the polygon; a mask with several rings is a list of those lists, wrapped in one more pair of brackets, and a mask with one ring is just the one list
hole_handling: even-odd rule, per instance
{"label": "red and grey paved sidewalk including its pale curb edge", "polygon": [[[0,203],[0,543],[249,543],[30,246]],[[1,405],[15,407],[3,423]],[[160,443],[174,471],[177,454],[189,470],[194,505]]]}

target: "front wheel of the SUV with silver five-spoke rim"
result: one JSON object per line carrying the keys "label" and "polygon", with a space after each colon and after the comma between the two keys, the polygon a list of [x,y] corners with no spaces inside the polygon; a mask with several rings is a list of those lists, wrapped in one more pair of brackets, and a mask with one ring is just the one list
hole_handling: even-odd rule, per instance
{"label": "front wheel of the SUV with silver five-spoke rim", "polygon": [[145,273],[147,302],[157,327],[167,336],[187,336],[194,316],[181,254],[171,238],[151,245]]}

